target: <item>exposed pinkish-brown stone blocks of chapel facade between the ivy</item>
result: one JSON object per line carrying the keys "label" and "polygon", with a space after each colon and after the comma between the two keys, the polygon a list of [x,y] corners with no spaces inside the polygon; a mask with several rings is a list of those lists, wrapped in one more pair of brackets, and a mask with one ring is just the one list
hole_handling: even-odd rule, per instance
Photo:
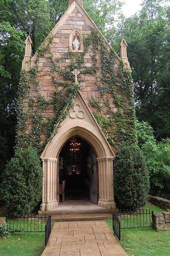
{"label": "exposed pinkish-brown stone blocks of chapel facade between the ivy", "polygon": [[[57,61],[57,58],[67,57],[69,50],[69,36],[73,30],[79,30],[83,36],[87,36],[91,33],[91,27],[86,22],[85,18],[81,13],[75,8],[58,32],[55,34],[53,38],[53,42],[50,44],[51,52],[53,53],[54,61]],[[89,47],[87,53],[85,54],[85,63],[84,66],[91,67],[93,60],[91,58],[91,54],[93,54],[92,46]],[[55,91],[55,84],[52,76],[55,75],[55,79],[63,82],[71,83],[69,80],[64,80],[63,76],[59,72],[51,72],[51,60],[47,58],[48,51],[45,53],[45,57],[40,58],[38,62],[38,78],[40,90],[37,92],[36,85],[31,84],[31,91],[28,94],[28,97],[24,100],[24,108],[28,108],[29,98],[32,97],[34,100],[37,99],[38,94],[43,96],[45,99],[49,100],[53,97],[53,93]],[[67,67],[70,60],[65,59],[60,64],[62,68]],[[97,67],[101,66],[101,57],[100,54],[97,54]],[[115,70],[117,70],[118,66],[115,66]],[[101,70],[99,69],[98,75],[100,76]],[[90,98],[95,96],[95,98],[101,98],[101,94],[98,91],[97,83],[95,81],[95,75],[93,74],[80,74],[78,76],[78,81],[81,85],[81,95],[87,102],[89,108],[92,112],[97,111],[96,108],[93,108],[90,104]],[[99,81],[100,82],[100,81]],[[64,88],[60,88],[63,91]],[[111,97],[111,96],[110,96]],[[111,98],[111,101],[112,98]],[[113,108],[116,111],[115,105],[113,104]],[[36,104],[34,104],[34,110],[36,109]],[[43,112],[43,118],[45,117],[53,117],[54,112],[53,108],[47,109]],[[28,130],[31,129],[31,125],[28,127]],[[45,136],[42,134],[41,143],[45,141]]]}

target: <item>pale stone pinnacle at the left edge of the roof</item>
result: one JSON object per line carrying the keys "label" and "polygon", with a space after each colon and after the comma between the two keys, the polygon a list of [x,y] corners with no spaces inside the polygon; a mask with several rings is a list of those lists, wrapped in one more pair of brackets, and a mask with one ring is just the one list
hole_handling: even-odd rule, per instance
{"label": "pale stone pinnacle at the left edge of the roof", "polygon": [[31,54],[32,54],[32,40],[30,36],[27,36],[25,40],[25,55],[22,61],[22,70],[30,70],[31,68]]}

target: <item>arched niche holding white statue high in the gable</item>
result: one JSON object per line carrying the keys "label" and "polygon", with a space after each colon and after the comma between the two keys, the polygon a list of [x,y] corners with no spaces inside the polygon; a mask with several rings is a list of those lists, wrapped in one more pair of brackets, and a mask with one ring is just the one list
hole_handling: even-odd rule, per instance
{"label": "arched niche holding white statue high in the gable", "polygon": [[83,36],[78,30],[73,30],[69,37],[69,47],[73,52],[83,52]]}

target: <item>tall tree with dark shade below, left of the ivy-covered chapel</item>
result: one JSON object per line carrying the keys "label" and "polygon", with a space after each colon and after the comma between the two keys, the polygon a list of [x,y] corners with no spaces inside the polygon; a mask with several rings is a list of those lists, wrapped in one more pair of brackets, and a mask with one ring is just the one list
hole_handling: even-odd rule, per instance
{"label": "tall tree with dark shade below, left of the ivy-covered chapel", "polygon": [[24,34],[9,22],[0,24],[0,181],[13,155],[16,125],[16,92],[24,54]]}

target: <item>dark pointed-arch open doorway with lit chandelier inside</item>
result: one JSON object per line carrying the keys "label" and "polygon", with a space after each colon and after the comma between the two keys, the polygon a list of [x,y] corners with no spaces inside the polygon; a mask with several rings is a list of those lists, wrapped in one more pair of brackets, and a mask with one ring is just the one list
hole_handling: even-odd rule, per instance
{"label": "dark pointed-arch open doorway with lit chandelier inside", "polygon": [[[89,200],[98,203],[97,158],[86,140],[74,136],[64,144],[59,153],[58,174],[58,202]],[[62,186],[65,186],[64,194]]]}

